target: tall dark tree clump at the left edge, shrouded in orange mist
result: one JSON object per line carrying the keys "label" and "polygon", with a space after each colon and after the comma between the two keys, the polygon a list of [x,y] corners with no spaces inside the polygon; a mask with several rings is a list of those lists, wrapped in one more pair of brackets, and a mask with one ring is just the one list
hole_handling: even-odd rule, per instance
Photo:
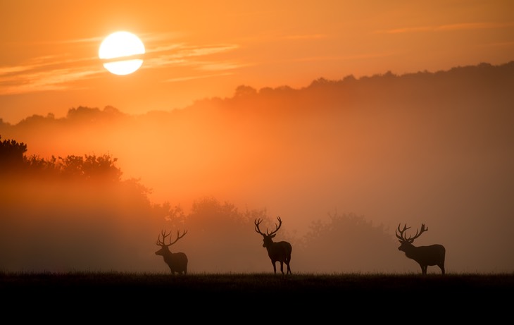
{"label": "tall dark tree clump at the left edge, shrouded in orange mist", "polygon": [[[148,188],[122,180],[107,154],[42,159],[23,156],[26,149],[1,142],[2,164],[15,156],[23,173],[0,182],[0,269],[151,269],[155,232],[169,212],[151,204]],[[20,245],[20,238],[37,245]]]}

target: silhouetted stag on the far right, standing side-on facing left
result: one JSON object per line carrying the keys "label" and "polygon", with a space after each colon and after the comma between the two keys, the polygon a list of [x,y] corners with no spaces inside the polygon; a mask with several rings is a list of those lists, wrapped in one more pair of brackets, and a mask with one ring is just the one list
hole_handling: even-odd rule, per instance
{"label": "silhouetted stag on the far right, standing side-on facing left", "polygon": [[[401,224],[401,223],[400,223]],[[406,257],[409,259],[414,259],[421,266],[422,275],[427,274],[428,266],[439,266],[441,269],[441,274],[444,275],[444,256],[446,255],[446,248],[443,245],[435,244],[430,246],[414,246],[413,242],[416,238],[420,237],[422,233],[428,231],[428,228],[425,227],[425,223],[421,224],[421,231],[418,233],[418,229],[416,229],[416,234],[414,237],[409,236],[406,238],[405,231],[410,227],[407,227],[407,224],[403,226],[403,229],[400,229],[400,224],[396,229],[396,238],[400,242],[400,246],[398,250],[405,252]]]}

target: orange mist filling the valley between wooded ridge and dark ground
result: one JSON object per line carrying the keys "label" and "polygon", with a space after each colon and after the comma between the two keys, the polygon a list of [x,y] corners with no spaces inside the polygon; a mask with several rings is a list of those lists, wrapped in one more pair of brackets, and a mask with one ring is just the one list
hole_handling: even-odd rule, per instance
{"label": "orange mist filling the valley between wooded ridge and dark ground", "polygon": [[512,272],[513,89],[514,62],[482,63],[0,123],[26,157],[106,154],[121,172],[87,185],[4,178],[0,270],[169,272],[155,241],[187,229],[171,248],[189,271],[272,272],[253,221],[272,230],[280,216],[293,274],[420,273],[397,250],[399,223],[425,223],[414,245],[444,245],[449,273]]}

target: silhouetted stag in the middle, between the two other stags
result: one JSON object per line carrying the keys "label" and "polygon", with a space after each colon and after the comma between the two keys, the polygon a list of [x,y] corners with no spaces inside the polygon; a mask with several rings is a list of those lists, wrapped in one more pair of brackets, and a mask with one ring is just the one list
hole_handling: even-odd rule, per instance
{"label": "silhouetted stag in the middle, between the two other stags", "polygon": [[277,274],[277,262],[280,262],[280,271],[282,271],[282,274],[284,274],[284,263],[287,265],[287,274],[291,273],[291,267],[289,266],[289,263],[291,262],[291,252],[293,250],[293,247],[290,243],[286,241],[280,241],[280,242],[273,242],[273,238],[275,237],[277,231],[280,229],[280,226],[282,226],[282,219],[280,219],[280,216],[277,216],[278,225],[275,224],[275,230],[271,233],[268,232],[268,229],[266,229],[266,233],[263,233],[261,229],[259,229],[259,225],[261,224],[261,219],[256,219],[254,221],[255,223],[255,231],[257,233],[260,233],[263,235],[263,247],[268,250],[268,256],[271,259],[271,264],[273,265],[273,272]]}

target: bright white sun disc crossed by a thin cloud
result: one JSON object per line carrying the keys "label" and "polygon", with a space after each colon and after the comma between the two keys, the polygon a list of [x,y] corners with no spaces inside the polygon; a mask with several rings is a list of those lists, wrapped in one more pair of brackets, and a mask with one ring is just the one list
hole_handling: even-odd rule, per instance
{"label": "bright white sun disc crossed by a thin cloud", "polygon": [[131,32],[113,32],[101,42],[99,58],[115,75],[129,75],[143,64],[144,44]]}

